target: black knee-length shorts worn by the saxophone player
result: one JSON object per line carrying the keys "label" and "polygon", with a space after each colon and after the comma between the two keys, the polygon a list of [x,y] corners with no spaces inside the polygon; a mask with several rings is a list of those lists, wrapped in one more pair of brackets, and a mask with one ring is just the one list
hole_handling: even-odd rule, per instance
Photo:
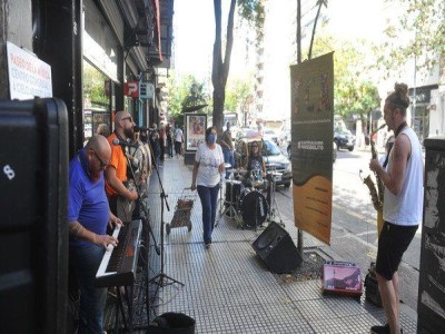
{"label": "black knee-length shorts worn by the saxophone player", "polygon": [[393,278],[402,256],[413,240],[418,225],[400,226],[385,222],[378,237],[376,272],[387,281]]}

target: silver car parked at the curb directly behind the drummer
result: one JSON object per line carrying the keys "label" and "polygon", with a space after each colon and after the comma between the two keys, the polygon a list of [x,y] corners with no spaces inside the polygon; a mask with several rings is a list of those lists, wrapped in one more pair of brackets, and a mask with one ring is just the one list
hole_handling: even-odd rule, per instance
{"label": "silver car parked at the curb directly behind the drummer", "polygon": [[[235,158],[238,167],[246,168],[247,159],[250,151],[250,144],[255,139],[243,138],[237,140],[235,147]],[[291,181],[291,165],[288,158],[281,154],[278,146],[269,139],[256,140],[261,144],[261,156],[266,164],[266,171],[275,171],[279,174],[275,180],[277,185],[290,186]]]}

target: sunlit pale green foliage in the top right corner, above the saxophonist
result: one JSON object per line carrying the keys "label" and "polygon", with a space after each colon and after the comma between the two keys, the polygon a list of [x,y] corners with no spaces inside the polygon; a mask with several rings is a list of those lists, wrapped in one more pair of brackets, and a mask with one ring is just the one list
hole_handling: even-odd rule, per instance
{"label": "sunlit pale green foliage in the top right corner, above the saxophonist", "polygon": [[406,67],[407,59],[416,57],[417,70],[432,70],[445,56],[445,1],[444,0],[386,0],[396,9],[386,28],[388,41],[379,58],[390,75]]}

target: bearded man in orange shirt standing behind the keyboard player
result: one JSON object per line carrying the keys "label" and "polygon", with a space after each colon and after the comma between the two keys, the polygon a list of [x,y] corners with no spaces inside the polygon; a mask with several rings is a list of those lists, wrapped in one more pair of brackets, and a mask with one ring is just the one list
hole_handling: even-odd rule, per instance
{"label": "bearded man in orange shirt standing behind the keyboard player", "polygon": [[[127,158],[126,148],[120,145],[113,145],[113,140],[127,140],[131,138],[134,134],[135,122],[128,111],[118,111],[115,117],[115,131],[108,137],[108,143],[111,147],[111,160],[105,169],[106,177],[106,191],[108,200],[110,203],[111,213],[117,215],[122,222],[131,220],[131,213],[118,213],[118,200],[119,203],[135,202],[138,199],[138,193],[136,189],[128,189],[127,183]],[[120,200],[123,199],[123,200]],[[119,207],[122,206],[119,204]]]}

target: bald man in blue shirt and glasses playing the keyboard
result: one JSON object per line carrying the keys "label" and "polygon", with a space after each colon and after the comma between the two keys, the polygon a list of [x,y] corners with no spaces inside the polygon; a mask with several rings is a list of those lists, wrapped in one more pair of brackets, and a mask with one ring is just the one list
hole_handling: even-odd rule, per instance
{"label": "bald man in blue shirt and glasses playing the keyboard", "polygon": [[96,288],[96,273],[107,245],[118,240],[107,235],[110,224],[121,220],[110,212],[103,169],[111,157],[107,138],[95,135],[69,165],[68,224],[70,261],[80,287],[78,333],[103,333],[107,288]]}

